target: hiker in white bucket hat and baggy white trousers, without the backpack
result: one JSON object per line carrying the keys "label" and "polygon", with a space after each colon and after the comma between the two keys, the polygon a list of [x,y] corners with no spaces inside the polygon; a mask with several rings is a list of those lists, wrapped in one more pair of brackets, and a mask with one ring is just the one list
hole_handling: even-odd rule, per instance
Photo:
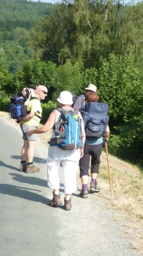
{"label": "hiker in white bucket hat and baggy white trousers, without the backpack", "polygon": [[[59,97],[57,98],[59,102],[60,110],[72,110],[71,104],[72,101],[72,94],[66,90],[60,93]],[[84,142],[85,142],[85,130],[84,130],[84,123],[83,118],[81,117],[80,112],[76,111],[77,115],[79,115],[81,119],[81,130],[83,133],[83,140],[81,147],[78,149],[73,150],[63,150],[62,148],[58,147],[57,144],[49,146],[49,152],[47,156],[47,184],[48,187],[53,189],[53,199],[49,202],[51,207],[58,207],[62,204],[59,194],[59,168],[60,163],[62,162],[63,167],[63,174],[64,174],[64,209],[71,210],[71,194],[76,190],[76,172],[79,169],[79,160],[83,157],[83,149],[84,149]],[[46,133],[51,128],[53,129],[53,133],[51,135],[51,139],[55,139],[55,131],[60,130],[59,122],[61,119],[61,112],[58,109],[54,109],[53,112],[49,115],[44,126],[39,127],[38,129],[29,130],[28,134],[31,136],[32,134],[40,134]]]}

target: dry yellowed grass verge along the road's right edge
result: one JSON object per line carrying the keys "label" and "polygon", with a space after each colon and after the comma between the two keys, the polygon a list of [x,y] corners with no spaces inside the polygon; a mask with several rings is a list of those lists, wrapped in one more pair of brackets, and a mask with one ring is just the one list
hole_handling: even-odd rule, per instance
{"label": "dry yellowed grass verge along the road's right edge", "polygon": [[137,166],[109,155],[109,172],[105,152],[101,155],[98,184],[106,208],[114,209],[115,220],[124,221],[125,231],[133,246],[143,254],[143,174]]}

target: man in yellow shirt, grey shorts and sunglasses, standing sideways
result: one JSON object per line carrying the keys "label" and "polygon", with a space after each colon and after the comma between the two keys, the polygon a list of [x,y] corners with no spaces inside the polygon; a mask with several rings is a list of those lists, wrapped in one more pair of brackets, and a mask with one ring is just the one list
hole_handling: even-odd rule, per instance
{"label": "man in yellow shirt, grey shorts and sunglasses, standing sideways", "polygon": [[44,85],[38,85],[34,90],[34,97],[27,104],[28,114],[20,121],[20,127],[23,132],[23,148],[21,150],[20,171],[38,172],[40,168],[33,165],[34,149],[36,147],[37,135],[28,136],[29,129],[36,129],[42,117],[42,108],[40,100],[47,96],[47,88]]}

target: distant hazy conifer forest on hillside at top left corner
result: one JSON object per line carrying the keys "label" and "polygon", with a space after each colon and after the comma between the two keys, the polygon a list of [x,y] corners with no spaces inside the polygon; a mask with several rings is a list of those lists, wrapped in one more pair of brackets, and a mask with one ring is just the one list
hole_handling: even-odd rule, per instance
{"label": "distant hazy conifer forest on hillside at top left corner", "polygon": [[36,25],[42,15],[49,13],[46,3],[21,0],[0,0],[0,30],[10,31],[16,27],[29,29]]}

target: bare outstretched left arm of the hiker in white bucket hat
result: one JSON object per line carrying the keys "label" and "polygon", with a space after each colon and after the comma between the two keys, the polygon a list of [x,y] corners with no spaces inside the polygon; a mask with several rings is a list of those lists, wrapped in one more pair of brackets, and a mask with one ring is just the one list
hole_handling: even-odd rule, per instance
{"label": "bare outstretched left arm of the hiker in white bucket hat", "polygon": [[55,119],[56,119],[56,112],[55,110],[53,110],[53,112],[51,112],[51,114],[49,115],[49,118],[47,119],[45,125],[34,130],[29,130],[27,132],[28,135],[31,136],[34,133],[36,134],[46,133],[46,131],[49,131],[54,126]]}

